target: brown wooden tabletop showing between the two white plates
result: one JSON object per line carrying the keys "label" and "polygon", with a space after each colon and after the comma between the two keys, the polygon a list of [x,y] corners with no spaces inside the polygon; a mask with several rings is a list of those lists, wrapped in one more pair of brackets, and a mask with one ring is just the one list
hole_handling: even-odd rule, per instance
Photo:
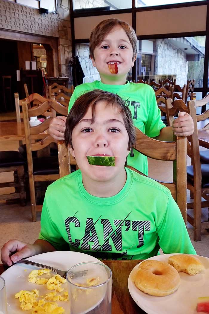
{"label": "brown wooden tabletop showing between the two white plates", "polygon": [[[146,314],[134,302],[128,291],[128,276],[132,269],[141,261],[102,261],[112,270],[112,314]],[[6,268],[3,264],[0,264],[0,275]]]}

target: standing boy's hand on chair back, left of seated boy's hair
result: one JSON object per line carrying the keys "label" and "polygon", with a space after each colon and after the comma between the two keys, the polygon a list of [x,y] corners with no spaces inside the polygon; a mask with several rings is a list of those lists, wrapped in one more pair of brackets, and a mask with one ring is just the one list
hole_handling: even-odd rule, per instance
{"label": "standing boy's hand on chair back, left of seated boy's hair", "polygon": [[50,122],[49,133],[54,139],[58,141],[64,140],[66,118],[67,117],[65,116],[58,116],[53,118]]}

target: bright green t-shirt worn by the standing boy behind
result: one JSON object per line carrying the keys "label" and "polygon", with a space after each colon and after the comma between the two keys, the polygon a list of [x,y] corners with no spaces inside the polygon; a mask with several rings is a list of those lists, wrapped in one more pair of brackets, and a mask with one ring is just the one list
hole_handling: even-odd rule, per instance
{"label": "bright green t-shirt worn by the standing boy behind", "polygon": [[[125,85],[107,85],[101,81],[84,83],[77,86],[71,96],[69,111],[75,100],[82,94],[94,89],[102,89],[118,94],[126,101],[133,116],[133,124],[147,136],[154,138],[159,135],[165,124],[160,118],[160,110],[157,106],[154,90],[148,84],[127,83]],[[129,166],[148,175],[147,157],[131,149],[127,163]]]}

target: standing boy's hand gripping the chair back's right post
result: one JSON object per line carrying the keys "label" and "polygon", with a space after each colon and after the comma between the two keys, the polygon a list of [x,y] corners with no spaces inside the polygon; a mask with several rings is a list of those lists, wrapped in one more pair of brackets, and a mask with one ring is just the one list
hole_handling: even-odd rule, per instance
{"label": "standing boy's hand gripping the chair back's right post", "polygon": [[190,136],[194,132],[194,122],[187,112],[179,112],[178,118],[173,121],[172,130],[177,136]]}

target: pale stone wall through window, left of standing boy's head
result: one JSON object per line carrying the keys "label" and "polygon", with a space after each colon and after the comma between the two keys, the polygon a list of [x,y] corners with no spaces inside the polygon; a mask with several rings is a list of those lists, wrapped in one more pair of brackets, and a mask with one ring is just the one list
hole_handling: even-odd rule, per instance
{"label": "pale stone wall through window, left of standing boy's head", "polygon": [[93,67],[91,59],[89,59],[89,44],[77,44],[76,56],[79,57],[81,68],[85,75],[85,78],[83,78],[83,83],[100,80],[99,72],[95,67]]}

